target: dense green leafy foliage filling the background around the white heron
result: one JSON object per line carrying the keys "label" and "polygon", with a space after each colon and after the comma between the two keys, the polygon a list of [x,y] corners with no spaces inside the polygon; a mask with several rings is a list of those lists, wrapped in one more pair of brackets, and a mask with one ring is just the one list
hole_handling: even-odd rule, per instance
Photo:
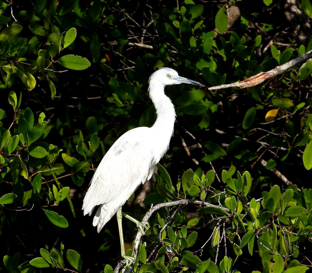
{"label": "dense green leafy foliage filling the background around the white heron", "polygon": [[[299,2],[311,16],[310,1]],[[225,4],[1,2],[2,272],[113,272],[121,260],[115,219],[98,234],[82,216],[82,199],[112,143],[154,123],[147,88],[155,68],[216,86],[312,49],[294,36],[282,2]],[[240,13],[229,26],[233,5]],[[164,167],[138,201],[145,207],[134,206],[137,192],[123,210],[142,219],[151,204],[190,203],[149,218],[133,271],[290,273],[311,266],[311,66],[247,89],[168,86],[177,122]],[[203,201],[211,205],[194,205]],[[126,248],[135,232],[133,223],[124,225]]]}

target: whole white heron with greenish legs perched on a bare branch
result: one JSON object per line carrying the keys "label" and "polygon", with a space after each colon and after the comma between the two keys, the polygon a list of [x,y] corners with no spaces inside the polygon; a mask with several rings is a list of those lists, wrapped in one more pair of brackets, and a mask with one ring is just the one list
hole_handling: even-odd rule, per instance
{"label": "whole white heron with greenish legs perched on a bare branch", "polygon": [[128,262],[133,259],[125,255],[122,215],[136,223],[143,233],[143,227],[148,228],[148,223],[141,223],[122,213],[121,207],[140,184],[151,178],[155,165],[168,150],[176,114],[164,89],[166,85],[181,83],[204,86],[180,77],[175,70],[167,67],[158,69],[150,76],[148,91],[156,108],[156,122],[150,128],[137,127],[119,137],[103,157],[83,200],[84,215],[90,215],[99,206],[93,218],[93,226],[97,226],[98,232],[117,212],[121,255]]}

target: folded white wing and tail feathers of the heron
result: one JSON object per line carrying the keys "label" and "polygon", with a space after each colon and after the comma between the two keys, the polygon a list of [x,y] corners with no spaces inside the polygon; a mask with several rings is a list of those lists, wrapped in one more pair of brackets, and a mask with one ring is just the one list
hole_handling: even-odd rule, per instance
{"label": "folded white wing and tail feathers of the heron", "polygon": [[93,225],[98,232],[145,180],[151,177],[155,163],[147,127],[138,127],[122,135],[109,149],[94,173],[84,201],[84,214],[100,205]]}

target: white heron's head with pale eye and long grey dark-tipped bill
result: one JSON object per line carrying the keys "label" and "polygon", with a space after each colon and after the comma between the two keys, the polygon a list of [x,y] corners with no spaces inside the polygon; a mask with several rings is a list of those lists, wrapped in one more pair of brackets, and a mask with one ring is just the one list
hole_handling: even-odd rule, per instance
{"label": "white heron's head with pale eye and long grey dark-tipped bill", "polygon": [[152,81],[156,81],[163,85],[173,85],[173,84],[184,83],[184,84],[204,86],[197,81],[179,76],[177,71],[168,67],[159,68],[156,72],[154,72],[149,78],[149,82],[151,83]]}

